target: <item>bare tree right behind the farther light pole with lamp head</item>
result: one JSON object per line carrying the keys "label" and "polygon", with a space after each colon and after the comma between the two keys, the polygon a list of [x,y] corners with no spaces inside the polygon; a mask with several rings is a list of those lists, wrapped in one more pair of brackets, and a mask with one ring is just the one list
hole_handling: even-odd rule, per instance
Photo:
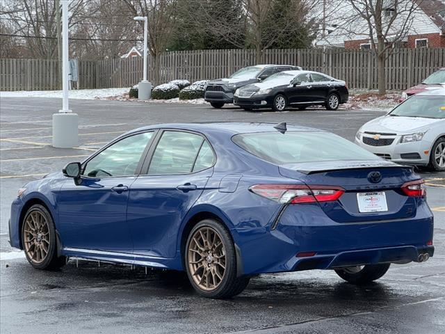
{"label": "bare tree right behind the farther light pole with lamp head", "polygon": [[[152,56],[150,80],[161,81],[161,54],[168,45],[175,24],[176,0],[123,0],[133,16],[147,16],[149,22],[148,50]],[[141,34],[142,35],[142,34]]]}

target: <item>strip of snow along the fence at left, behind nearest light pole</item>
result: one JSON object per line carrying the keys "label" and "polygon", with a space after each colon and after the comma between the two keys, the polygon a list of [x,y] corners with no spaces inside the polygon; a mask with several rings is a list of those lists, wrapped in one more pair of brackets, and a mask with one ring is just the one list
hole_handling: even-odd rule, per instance
{"label": "strip of snow along the fence at left, behind nearest light pole", "polygon": [[[76,89],[70,90],[69,98],[73,100],[95,100],[115,97],[128,93],[129,88]],[[62,90],[18,90],[0,92],[0,97],[56,97],[62,98]]]}

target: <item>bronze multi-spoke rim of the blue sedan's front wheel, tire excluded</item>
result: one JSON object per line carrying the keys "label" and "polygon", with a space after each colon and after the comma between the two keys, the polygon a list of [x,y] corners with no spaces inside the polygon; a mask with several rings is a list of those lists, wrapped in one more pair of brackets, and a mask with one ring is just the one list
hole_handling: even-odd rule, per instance
{"label": "bronze multi-spoke rim of the blue sedan's front wheel, tire excluded", "polygon": [[49,251],[49,225],[38,210],[28,213],[23,228],[24,250],[34,264],[42,263]]}

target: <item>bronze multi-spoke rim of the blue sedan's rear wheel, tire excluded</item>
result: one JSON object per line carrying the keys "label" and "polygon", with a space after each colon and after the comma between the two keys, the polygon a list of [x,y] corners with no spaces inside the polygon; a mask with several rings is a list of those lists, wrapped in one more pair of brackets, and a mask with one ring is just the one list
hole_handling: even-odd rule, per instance
{"label": "bronze multi-spoke rim of the blue sedan's rear wheel, tire excluded", "polygon": [[202,226],[193,234],[188,246],[188,269],[195,284],[204,291],[213,291],[223,281],[225,245],[213,228]]}

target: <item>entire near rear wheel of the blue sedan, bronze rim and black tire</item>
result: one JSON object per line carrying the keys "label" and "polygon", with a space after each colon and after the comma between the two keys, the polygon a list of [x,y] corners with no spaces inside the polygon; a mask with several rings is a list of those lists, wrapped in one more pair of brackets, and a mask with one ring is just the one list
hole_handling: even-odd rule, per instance
{"label": "entire near rear wheel of the blue sedan, bronze rim and black tire", "polygon": [[188,234],[184,260],[188,279],[201,296],[236,296],[250,280],[236,277],[234,241],[225,226],[213,219],[200,221]]}

